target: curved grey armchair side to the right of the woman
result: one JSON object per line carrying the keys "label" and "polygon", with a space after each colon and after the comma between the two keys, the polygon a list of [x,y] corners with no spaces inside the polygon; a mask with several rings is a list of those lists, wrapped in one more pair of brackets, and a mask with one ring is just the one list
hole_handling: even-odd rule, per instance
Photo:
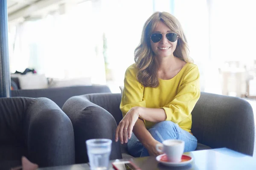
{"label": "curved grey armchair side to the right of the woman", "polygon": [[253,155],[254,118],[244,99],[201,93],[192,111],[192,133],[199,143]]}

